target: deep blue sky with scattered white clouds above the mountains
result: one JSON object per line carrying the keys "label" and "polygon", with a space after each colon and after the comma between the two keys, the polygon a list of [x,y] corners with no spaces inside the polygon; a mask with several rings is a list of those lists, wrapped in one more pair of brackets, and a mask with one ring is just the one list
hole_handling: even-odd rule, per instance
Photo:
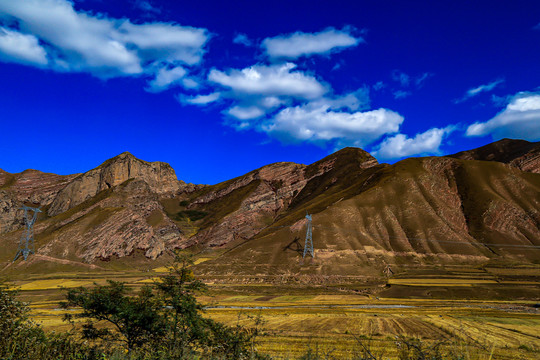
{"label": "deep blue sky with scattered white clouds above the mountains", "polygon": [[0,168],[217,183],[540,140],[540,3],[0,0]]}

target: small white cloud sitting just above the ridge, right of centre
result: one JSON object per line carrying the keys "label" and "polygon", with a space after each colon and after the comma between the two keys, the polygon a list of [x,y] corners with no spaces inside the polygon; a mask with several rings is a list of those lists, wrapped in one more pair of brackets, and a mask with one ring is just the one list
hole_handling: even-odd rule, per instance
{"label": "small white cloud sitting just above the ridge, right of centre", "polygon": [[443,129],[433,128],[424,133],[409,138],[404,134],[397,134],[386,138],[373,152],[381,159],[398,159],[412,155],[437,154],[444,136],[454,130],[453,126]]}

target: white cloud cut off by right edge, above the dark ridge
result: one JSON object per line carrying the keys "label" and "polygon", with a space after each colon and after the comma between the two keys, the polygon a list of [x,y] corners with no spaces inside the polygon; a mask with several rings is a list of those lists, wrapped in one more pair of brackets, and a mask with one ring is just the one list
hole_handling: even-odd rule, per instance
{"label": "white cloud cut off by right edge, above the dark ridge", "polygon": [[477,122],[467,128],[467,136],[491,135],[494,139],[540,139],[540,93],[521,92],[506,108],[486,122]]}

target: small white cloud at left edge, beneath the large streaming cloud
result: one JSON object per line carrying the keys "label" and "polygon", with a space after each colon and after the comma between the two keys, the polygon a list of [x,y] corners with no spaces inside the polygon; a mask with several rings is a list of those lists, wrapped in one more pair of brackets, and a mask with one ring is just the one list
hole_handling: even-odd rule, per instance
{"label": "small white cloud at left edge, beneath the large streaming cloud", "polygon": [[0,60],[44,66],[47,53],[35,36],[0,27]]}

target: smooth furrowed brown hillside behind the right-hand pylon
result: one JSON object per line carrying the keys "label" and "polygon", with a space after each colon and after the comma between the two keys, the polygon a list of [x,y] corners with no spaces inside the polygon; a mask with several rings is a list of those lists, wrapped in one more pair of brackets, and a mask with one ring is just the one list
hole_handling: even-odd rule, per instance
{"label": "smooth furrowed brown hillside behind the right-hand pylon", "polygon": [[[279,226],[199,270],[214,276],[308,271],[354,277],[380,276],[386,264],[540,261],[540,175],[497,162],[435,157],[373,167],[364,176],[370,170],[363,182],[362,173],[352,173],[357,179],[349,187],[306,199]],[[314,212],[316,256],[309,269],[299,263],[306,210]]]}

